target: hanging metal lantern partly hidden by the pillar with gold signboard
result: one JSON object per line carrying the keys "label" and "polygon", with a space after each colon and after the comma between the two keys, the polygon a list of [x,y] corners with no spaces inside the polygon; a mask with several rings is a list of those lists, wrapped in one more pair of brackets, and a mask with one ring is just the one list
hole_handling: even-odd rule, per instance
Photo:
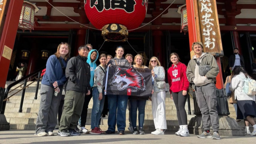
{"label": "hanging metal lantern partly hidden by the pillar with gold signboard", "polygon": [[187,24],[187,7],[186,4],[179,7],[178,11],[179,14],[181,14],[181,30],[180,32],[188,32],[188,24]]}

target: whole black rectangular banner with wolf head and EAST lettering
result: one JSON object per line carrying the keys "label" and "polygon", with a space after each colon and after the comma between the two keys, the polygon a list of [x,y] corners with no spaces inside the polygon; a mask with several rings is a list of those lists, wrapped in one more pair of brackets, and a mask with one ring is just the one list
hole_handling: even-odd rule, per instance
{"label": "whole black rectangular banner with wolf head and EAST lettering", "polygon": [[151,70],[111,65],[106,73],[105,90],[106,94],[151,96]]}

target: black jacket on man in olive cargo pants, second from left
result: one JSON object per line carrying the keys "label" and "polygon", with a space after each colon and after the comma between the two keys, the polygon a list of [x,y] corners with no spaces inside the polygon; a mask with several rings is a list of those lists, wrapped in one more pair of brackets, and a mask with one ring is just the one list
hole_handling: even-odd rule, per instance
{"label": "black jacket on man in olive cargo pants, second from left", "polygon": [[91,90],[90,65],[86,62],[87,58],[81,56],[73,57],[68,61],[66,68],[67,85],[66,90],[87,93]]}

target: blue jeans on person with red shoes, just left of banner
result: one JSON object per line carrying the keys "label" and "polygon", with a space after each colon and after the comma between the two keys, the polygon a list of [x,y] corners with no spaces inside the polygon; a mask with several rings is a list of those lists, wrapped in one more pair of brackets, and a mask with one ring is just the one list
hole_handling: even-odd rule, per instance
{"label": "blue jeans on person with red shoes, just left of banner", "polygon": [[99,128],[99,120],[104,107],[105,94],[102,92],[102,99],[99,100],[99,90],[97,87],[93,88],[93,109],[91,116],[91,129]]}

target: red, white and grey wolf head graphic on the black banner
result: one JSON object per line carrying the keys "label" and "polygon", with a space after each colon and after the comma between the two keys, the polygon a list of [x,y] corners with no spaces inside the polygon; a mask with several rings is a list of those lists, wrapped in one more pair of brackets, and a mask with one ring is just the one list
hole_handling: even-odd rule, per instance
{"label": "red, white and grey wolf head graphic on the black banner", "polygon": [[135,88],[136,90],[146,90],[145,79],[132,67],[120,68],[117,66],[112,84],[113,86],[117,86],[118,90],[124,90],[129,87]]}

